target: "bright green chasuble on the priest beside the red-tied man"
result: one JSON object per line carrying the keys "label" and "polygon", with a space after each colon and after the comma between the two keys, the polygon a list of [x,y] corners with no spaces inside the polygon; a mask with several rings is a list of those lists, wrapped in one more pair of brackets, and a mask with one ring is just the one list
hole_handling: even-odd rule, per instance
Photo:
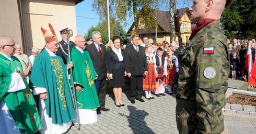
{"label": "bright green chasuble on the priest beside the red-tied man", "polygon": [[[82,85],[80,91],[76,90],[78,109],[95,110],[100,106],[94,84],[94,80],[98,75],[94,69],[94,64],[92,64],[90,55],[86,50],[82,53],[77,48],[73,48],[71,51],[71,58],[74,64],[74,82]],[[69,57],[67,59],[69,59]],[[71,85],[73,85],[72,82]]]}

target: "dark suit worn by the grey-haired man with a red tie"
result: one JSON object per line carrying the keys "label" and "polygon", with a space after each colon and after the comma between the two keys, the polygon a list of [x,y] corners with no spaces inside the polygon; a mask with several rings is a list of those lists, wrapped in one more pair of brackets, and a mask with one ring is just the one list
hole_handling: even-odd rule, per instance
{"label": "dark suit worn by the grey-haired man with a red tie", "polygon": [[102,52],[102,58],[100,57],[98,47],[95,46],[95,43],[88,45],[86,50],[89,52],[92,62],[94,63],[94,68],[98,74],[98,84],[97,93],[100,102],[100,110],[105,108],[105,99],[106,99],[106,78],[107,73],[109,73],[108,61],[106,56],[106,47],[102,44],[100,46]]}

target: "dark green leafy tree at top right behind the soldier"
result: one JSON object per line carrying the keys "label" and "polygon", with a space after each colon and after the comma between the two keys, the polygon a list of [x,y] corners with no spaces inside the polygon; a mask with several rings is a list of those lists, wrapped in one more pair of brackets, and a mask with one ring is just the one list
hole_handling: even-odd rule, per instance
{"label": "dark green leafy tree at top right behind the soldier", "polygon": [[256,34],[256,0],[234,0],[223,12],[221,22],[228,38],[251,39]]}

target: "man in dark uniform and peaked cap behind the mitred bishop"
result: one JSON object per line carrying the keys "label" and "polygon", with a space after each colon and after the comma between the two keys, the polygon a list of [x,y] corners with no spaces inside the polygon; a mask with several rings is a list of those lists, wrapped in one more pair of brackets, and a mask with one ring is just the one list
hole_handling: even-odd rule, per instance
{"label": "man in dark uniform and peaked cap behind the mitred bishop", "polygon": [[[62,40],[59,42],[60,47],[58,51],[56,52],[58,55],[60,55],[63,59],[64,64],[67,64],[67,56],[68,56],[68,46],[67,46],[67,29],[63,29],[60,31]],[[70,42],[69,50],[72,50],[72,47],[75,47],[76,44],[72,41]]]}

